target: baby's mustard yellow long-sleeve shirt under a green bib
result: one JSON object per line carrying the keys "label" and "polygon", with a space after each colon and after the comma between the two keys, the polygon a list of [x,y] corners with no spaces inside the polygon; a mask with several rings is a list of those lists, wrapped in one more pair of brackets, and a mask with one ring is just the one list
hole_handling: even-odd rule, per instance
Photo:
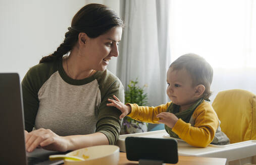
{"label": "baby's mustard yellow long-sleeve shirt under a green bib", "polygon": [[[171,102],[168,102],[166,105],[157,107],[129,104],[131,106],[131,113],[128,116],[138,121],[158,124],[159,118],[156,116],[161,112],[166,112],[170,104]],[[217,114],[211,104],[203,101],[194,110],[189,123],[179,119],[172,128],[172,131],[190,145],[206,147],[213,141],[218,127],[219,119]],[[229,143],[228,138],[227,141]]]}

